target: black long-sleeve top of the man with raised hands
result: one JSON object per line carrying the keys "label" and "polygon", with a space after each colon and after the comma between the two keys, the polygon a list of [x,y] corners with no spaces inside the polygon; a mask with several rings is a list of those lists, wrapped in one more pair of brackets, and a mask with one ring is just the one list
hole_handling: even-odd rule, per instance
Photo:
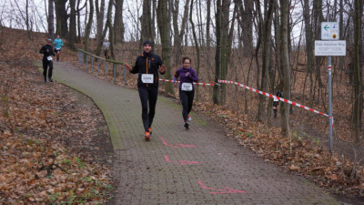
{"label": "black long-sleeve top of the man with raised hands", "polygon": [[[157,54],[145,54],[136,57],[136,65],[130,71],[130,73],[138,73],[137,77],[137,87],[158,87],[158,68],[162,66],[163,62],[160,56]],[[153,74],[153,83],[143,83],[142,75],[143,74]],[[164,75],[165,73],[160,73]]]}

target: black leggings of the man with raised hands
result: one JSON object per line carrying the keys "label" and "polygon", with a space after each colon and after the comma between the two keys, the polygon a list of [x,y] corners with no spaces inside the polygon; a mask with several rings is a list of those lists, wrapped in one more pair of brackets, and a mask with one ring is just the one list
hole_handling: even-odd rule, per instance
{"label": "black leggings of the man with raised hands", "polygon": [[[140,102],[142,103],[143,126],[146,131],[152,127],[153,118],[156,113],[158,87],[138,87]],[[149,113],[148,113],[149,101]]]}

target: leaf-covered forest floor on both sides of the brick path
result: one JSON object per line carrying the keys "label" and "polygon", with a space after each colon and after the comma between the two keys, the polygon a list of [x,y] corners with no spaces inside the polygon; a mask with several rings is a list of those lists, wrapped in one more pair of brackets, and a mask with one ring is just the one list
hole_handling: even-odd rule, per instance
{"label": "leaf-covered forest floor on both sides of the brick path", "polygon": [[[42,58],[38,51],[45,35],[33,34],[29,45],[24,31],[1,32],[0,202],[106,202],[113,190],[113,150],[105,140],[109,133],[102,113],[71,88],[42,82],[33,62]],[[61,60],[75,62],[76,55],[64,48]],[[305,176],[341,201],[364,204],[361,146],[354,152],[350,143],[336,140],[331,156],[327,137],[299,118],[291,121],[291,138],[281,138],[279,117],[268,128],[228,108],[196,103],[194,109],[224,125],[227,137],[259,157]]]}

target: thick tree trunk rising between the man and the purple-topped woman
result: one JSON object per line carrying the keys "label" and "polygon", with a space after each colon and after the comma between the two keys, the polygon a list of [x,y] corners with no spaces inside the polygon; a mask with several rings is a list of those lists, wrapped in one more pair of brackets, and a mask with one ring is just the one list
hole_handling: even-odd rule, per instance
{"label": "thick tree trunk rising between the man and the purple-topped woman", "polygon": [[[167,0],[159,0],[157,6],[157,24],[160,32],[160,39],[162,42],[162,59],[167,67],[165,77],[171,77],[171,40],[170,40],[170,19],[168,16]],[[174,95],[175,90],[172,84],[166,84],[166,92]]]}

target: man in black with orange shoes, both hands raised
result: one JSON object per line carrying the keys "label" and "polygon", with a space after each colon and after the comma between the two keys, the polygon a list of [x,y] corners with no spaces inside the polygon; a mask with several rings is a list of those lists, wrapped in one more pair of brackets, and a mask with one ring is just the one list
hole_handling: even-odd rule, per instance
{"label": "man in black with orange shoes, both hands raised", "polygon": [[152,123],[156,113],[158,72],[164,75],[166,67],[163,65],[160,56],[152,52],[152,43],[148,40],[143,43],[143,54],[137,56],[136,65],[131,67],[128,64],[124,64],[124,67],[130,73],[138,74],[137,89],[142,104],[143,126],[146,131],[145,139],[149,140],[152,136]]}

